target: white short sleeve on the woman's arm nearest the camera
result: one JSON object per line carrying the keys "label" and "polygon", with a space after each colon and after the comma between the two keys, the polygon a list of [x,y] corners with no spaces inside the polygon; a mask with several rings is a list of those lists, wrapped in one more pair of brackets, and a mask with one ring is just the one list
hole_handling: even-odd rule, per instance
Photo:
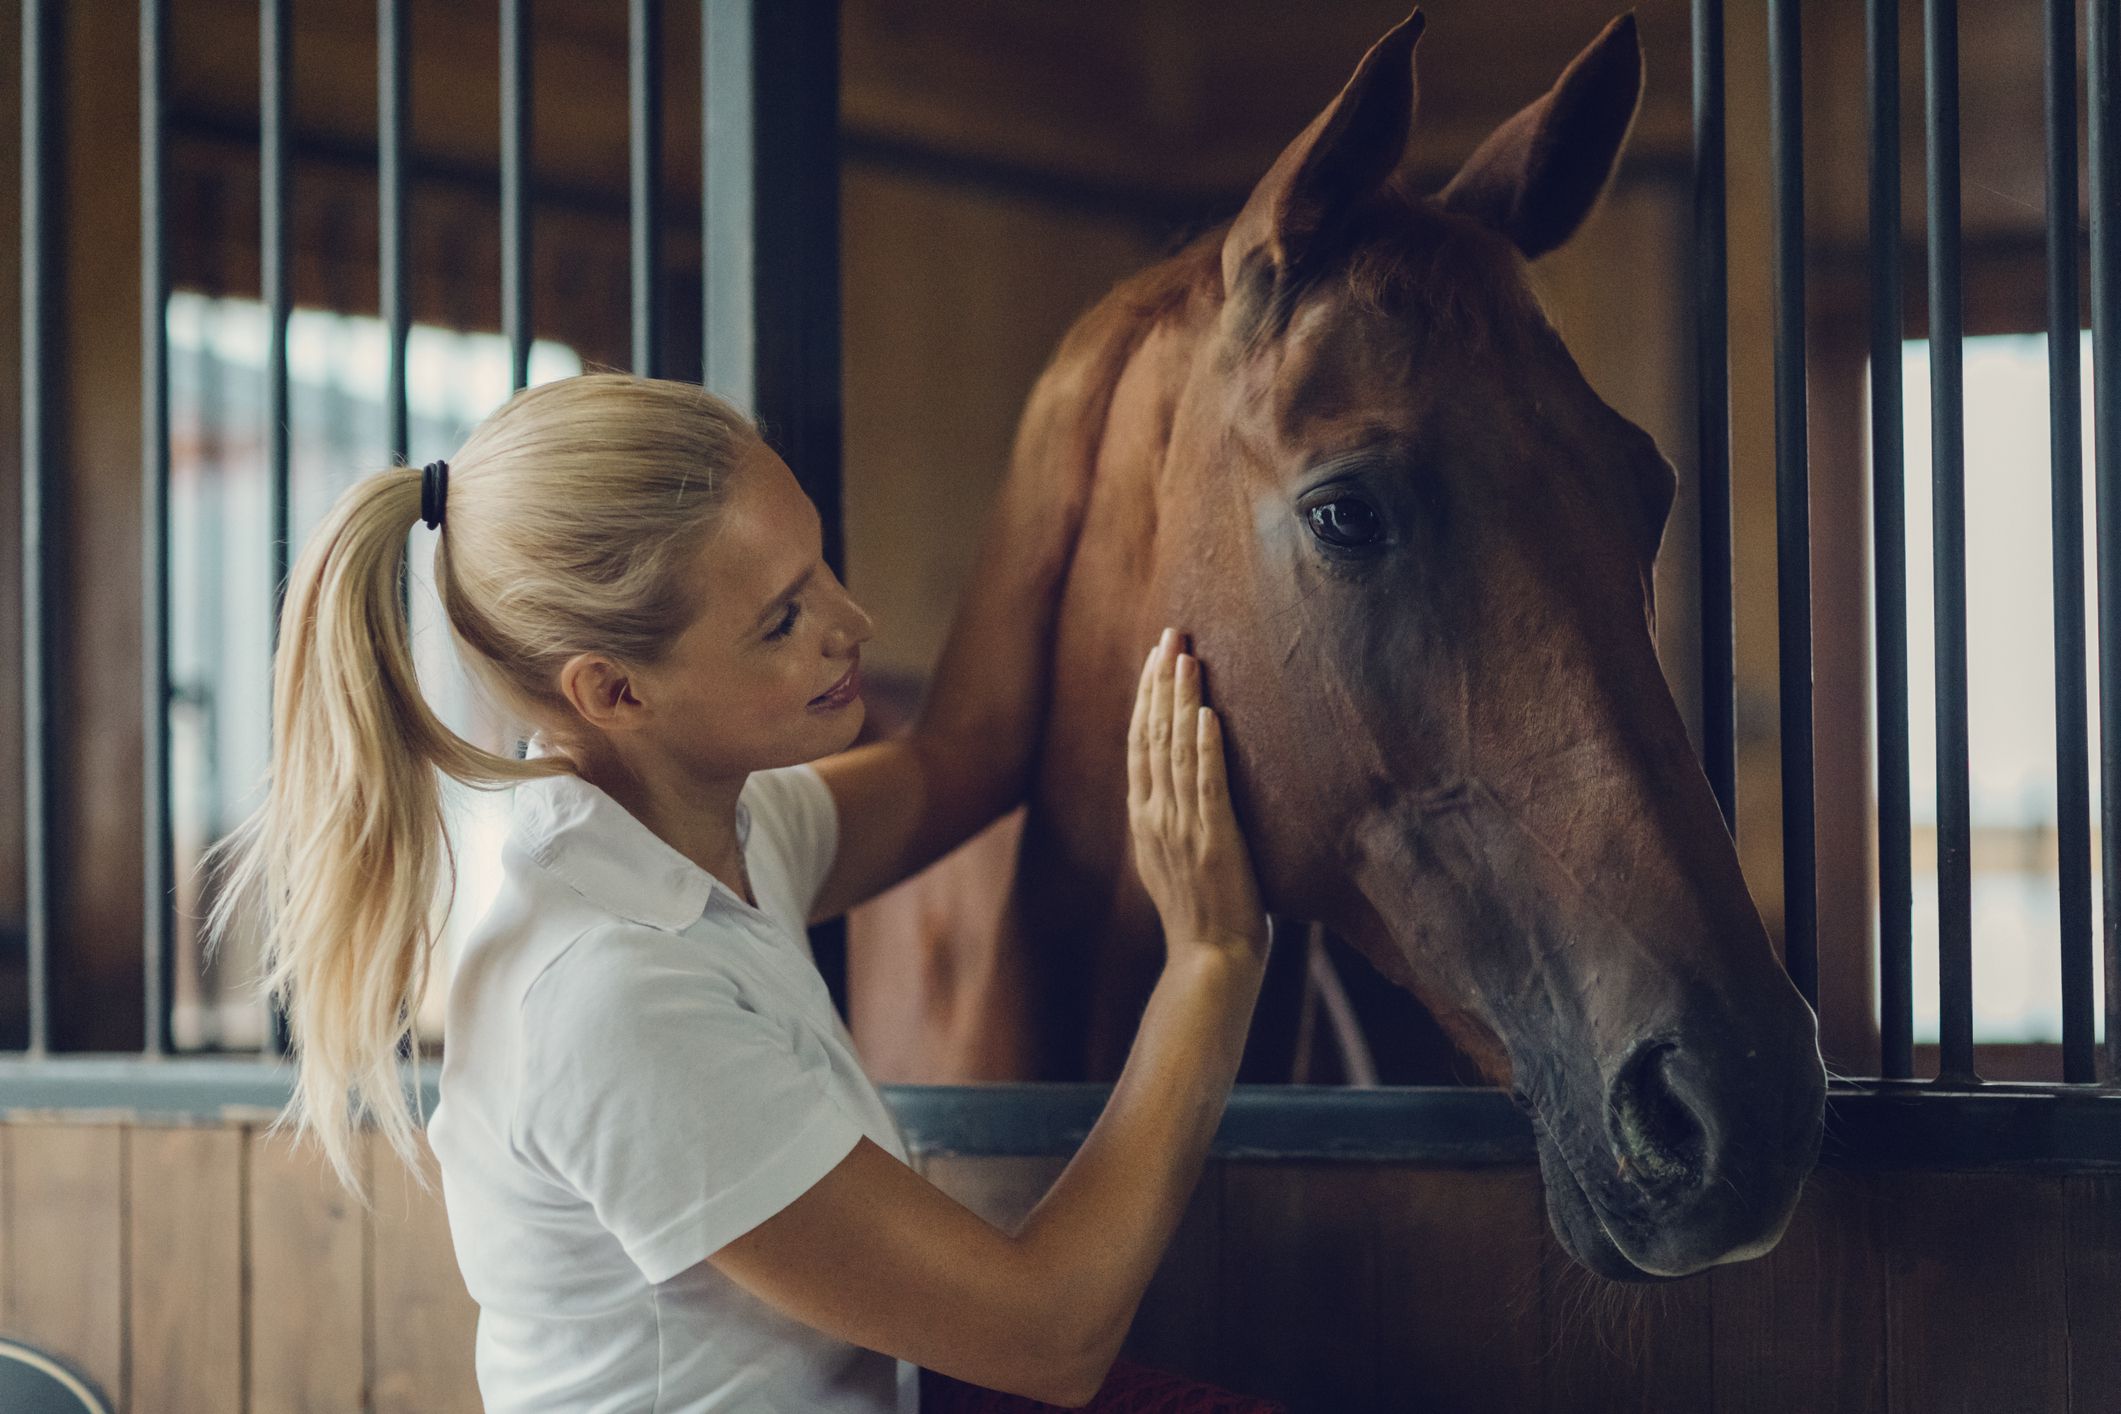
{"label": "white short sleeve on the woman's arm nearest the camera", "polygon": [[759,1225],[861,1141],[789,1032],[696,941],[598,929],[524,994],[515,1143],[662,1283]]}

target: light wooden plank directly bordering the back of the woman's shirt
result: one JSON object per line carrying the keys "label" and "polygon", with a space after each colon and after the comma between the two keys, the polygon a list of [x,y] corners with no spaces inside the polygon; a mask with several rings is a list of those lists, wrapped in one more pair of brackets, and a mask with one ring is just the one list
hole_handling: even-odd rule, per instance
{"label": "light wooden plank directly bordering the back of the woman's shirt", "polygon": [[380,1134],[367,1134],[375,1210],[369,1219],[375,1321],[371,1399],[375,1414],[477,1414],[473,1338],[479,1308],[464,1291],[450,1247],[435,1160],[420,1136],[420,1162],[435,1183],[420,1189]]}

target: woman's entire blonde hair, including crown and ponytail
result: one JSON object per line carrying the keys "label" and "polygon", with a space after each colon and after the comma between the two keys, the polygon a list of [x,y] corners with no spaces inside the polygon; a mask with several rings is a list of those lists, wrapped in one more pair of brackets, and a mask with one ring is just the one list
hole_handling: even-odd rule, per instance
{"label": "woman's entire blonde hair, including crown and ponytail", "polygon": [[[566,721],[573,655],[660,661],[698,611],[687,566],[755,441],[704,388],[626,373],[541,384],[488,416],[450,458],[435,549],[473,685],[522,721]],[[274,651],[267,793],[206,861],[223,869],[208,939],[259,931],[259,986],[286,1007],[299,1075],[280,1121],[363,1200],[363,1115],[418,1172],[399,1054],[418,1056],[443,865],[456,886],[441,776],[498,789],[568,770],[481,750],[420,695],[399,589],[420,479],[363,477],[303,545]]]}

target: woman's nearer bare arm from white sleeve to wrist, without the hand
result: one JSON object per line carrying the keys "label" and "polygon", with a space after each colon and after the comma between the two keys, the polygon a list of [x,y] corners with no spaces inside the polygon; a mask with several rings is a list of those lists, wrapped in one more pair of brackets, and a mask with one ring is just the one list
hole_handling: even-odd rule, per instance
{"label": "woman's nearer bare arm from white sleeve to wrist, without the hand", "polygon": [[988,1225],[863,1138],[708,1261],[857,1346],[1012,1395],[1088,1403],[1200,1179],[1260,975],[1215,958],[1164,971],[1105,1113],[1018,1232]]}

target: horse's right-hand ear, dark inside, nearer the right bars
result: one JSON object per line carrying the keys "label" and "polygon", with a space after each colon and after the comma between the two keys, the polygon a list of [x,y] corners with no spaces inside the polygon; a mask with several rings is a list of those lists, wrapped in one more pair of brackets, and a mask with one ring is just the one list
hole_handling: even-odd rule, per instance
{"label": "horse's right-hand ear, dark inside, nearer the right bars", "polygon": [[1606,193],[1640,106],[1642,40],[1629,11],[1570,61],[1553,89],[1489,134],[1436,199],[1495,227],[1527,259],[1546,254]]}

